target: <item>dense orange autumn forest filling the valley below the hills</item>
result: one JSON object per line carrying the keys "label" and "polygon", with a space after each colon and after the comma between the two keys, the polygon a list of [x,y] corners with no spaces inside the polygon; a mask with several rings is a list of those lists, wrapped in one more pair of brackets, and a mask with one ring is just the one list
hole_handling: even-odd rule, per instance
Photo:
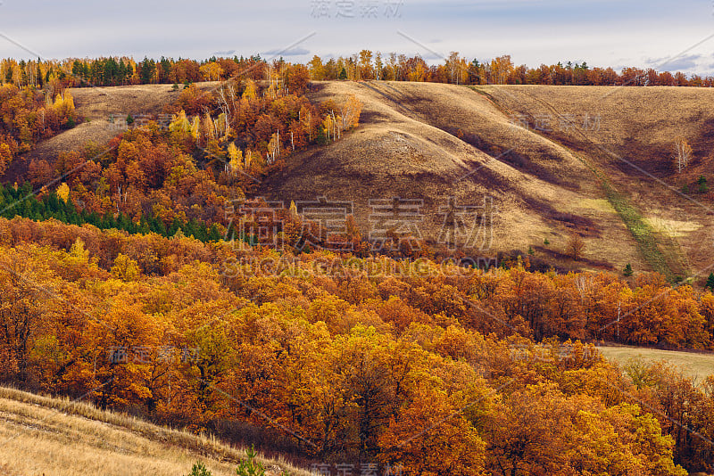
{"label": "dense orange autumn forest filling the valley below the hills", "polygon": [[221,273],[236,253],[280,258],[0,218],[3,381],[90,392],[196,431],[258,438],[239,430],[258,425],[269,447],[312,461],[413,475],[684,475],[673,458],[712,467],[712,377],[619,369],[578,340],[611,338],[622,300],[641,307],[619,324],[626,339],[709,347],[710,292],[659,301],[668,286],[657,275],[630,287],[518,263],[463,273],[427,260],[436,272],[378,275],[365,272],[372,258],[325,251],[285,253],[294,267],[279,274]]}

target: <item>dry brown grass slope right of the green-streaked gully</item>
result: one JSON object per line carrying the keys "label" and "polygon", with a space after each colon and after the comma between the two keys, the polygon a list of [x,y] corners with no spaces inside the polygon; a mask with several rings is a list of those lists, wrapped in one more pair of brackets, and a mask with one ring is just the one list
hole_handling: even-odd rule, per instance
{"label": "dry brown grass slope right of the green-streaked gully", "polygon": [[[484,86],[505,111],[572,119],[542,135],[578,151],[647,215],[665,253],[681,255],[684,272],[709,275],[714,203],[694,190],[678,193],[700,175],[711,176],[714,91],[697,87]],[[583,127],[585,115],[592,127]],[[597,119],[594,121],[594,119]],[[597,122],[597,124],[595,124]],[[672,167],[678,136],[692,144],[693,160],[681,174]],[[662,226],[664,225],[664,226]],[[674,250],[673,250],[674,249]],[[619,251],[619,250],[616,250]],[[633,263],[635,266],[635,263]]]}

